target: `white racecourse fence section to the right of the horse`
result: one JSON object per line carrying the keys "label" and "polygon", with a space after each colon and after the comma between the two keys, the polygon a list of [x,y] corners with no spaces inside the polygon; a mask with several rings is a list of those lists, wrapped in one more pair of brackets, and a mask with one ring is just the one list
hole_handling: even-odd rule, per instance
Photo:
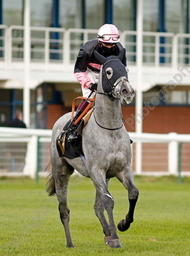
{"label": "white racecourse fence section to the right of the horse", "polygon": [[[155,134],[155,133],[131,133],[132,166],[136,174],[144,175],[181,175],[190,176],[190,134]],[[136,143],[141,143],[142,158],[136,151]],[[183,150],[179,153],[179,146]],[[185,156],[185,157],[184,157]],[[141,168],[136,169],[136,160],[142,159]],[[181,160],[183,160],[181,162]],[[179,166],[181,162],[181,166]]]}

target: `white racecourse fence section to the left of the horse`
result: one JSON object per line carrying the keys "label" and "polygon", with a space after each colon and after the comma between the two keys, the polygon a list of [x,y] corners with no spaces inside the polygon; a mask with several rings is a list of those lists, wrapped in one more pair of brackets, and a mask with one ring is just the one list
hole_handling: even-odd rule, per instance
{"label": "white racecourse fence section to the left of the horse", "polygon": [[35,178],[50,162],[52,130],[0,127],[0,176]]}

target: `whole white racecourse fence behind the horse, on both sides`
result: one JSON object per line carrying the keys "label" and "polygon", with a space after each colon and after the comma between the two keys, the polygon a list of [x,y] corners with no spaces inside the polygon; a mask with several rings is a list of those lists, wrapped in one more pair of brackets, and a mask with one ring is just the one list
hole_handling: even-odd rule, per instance
{"label": "whole white racecourse fence behind the horse, on both sides", "polygon": [[[0,176],[46,176],[52,130],[0,127]],[[190,134],[129,133],[138,175],[190,176]],[[140,164],[139,164],[140,162]]]}

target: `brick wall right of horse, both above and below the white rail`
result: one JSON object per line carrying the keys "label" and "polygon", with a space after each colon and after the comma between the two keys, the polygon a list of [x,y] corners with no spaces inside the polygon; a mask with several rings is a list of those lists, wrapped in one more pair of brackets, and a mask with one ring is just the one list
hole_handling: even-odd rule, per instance
{"label": "brick wall right of horse, both above and below the white rail", "polygon": [[[123,118],[127,120],[131,118],[131,114],[135,115],[135,106],[122,106]],[[147,116],[143,116],[142,131],[145,133],[190,133],[190,107],[187,106],[155,106],[149,111]],[[132,129],[125,123],[128,132],[135,132],[134,120]],[[167,144],[142,144],[142,172],[167,171],[168,148]],[[135,171],[135,143],[132,144],[132,167]],[[181,148],[181,171],[189,171],[190,169],[190,144],[183,143]],[[160,161],[162,159],[162,161]]]}

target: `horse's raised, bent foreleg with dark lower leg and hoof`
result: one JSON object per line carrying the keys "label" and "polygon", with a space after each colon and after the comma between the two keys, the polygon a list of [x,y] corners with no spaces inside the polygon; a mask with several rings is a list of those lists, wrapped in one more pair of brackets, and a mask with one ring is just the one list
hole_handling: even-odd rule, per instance
{"label": "horse's raised, bent foreleg with dark lower leg and hoof", "polygon": [[136,201],[139,196],[139,190],[136,188],[134,183],[134,176],[131,165],[128,165],[127,169],[124,171],[119,172],[116,177],[128,190],[129,211],[125,219],[120,220],[118,223],[119,231],[126,231],[130,227],[130,224],[133,222],[133,215]]}

